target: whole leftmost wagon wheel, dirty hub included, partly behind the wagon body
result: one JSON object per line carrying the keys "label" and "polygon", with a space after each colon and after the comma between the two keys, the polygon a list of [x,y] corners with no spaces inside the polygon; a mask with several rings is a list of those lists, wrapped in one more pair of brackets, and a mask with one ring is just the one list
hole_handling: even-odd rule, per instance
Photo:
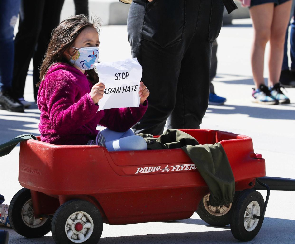
{"label": "whole leftmost wagon wheel, dirty hub included, partly behind the wagon body", "polygon": [[8,219],[11,227],[27,238],[46,235],[51,229],[51,220],[45,217],[35,218],[31,192],[23,188],[12,198],[8,208]]}

